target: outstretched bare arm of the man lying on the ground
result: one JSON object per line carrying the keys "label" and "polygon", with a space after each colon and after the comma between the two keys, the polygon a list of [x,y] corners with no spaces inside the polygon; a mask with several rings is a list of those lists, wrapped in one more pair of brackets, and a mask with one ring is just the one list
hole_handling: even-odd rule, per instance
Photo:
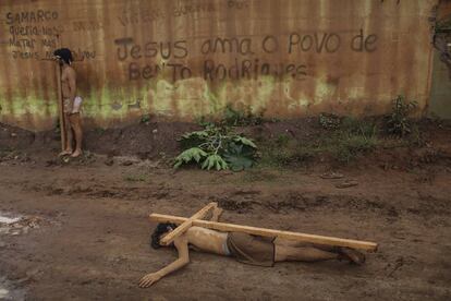
{"label": "outstretched bare arm of the man lying on the ground", "polygon": [[174,240],[174,245],[179,252],[179,258],[173,263],[167,265],[166,267],[161,268],[156,273],[149,273],[139,280],[141,288],[147,288],[159,279],[164,277],[172,272],[175,272],[190,263],[190,252],[187,245],[187,239],[185,236],[179,237]]}

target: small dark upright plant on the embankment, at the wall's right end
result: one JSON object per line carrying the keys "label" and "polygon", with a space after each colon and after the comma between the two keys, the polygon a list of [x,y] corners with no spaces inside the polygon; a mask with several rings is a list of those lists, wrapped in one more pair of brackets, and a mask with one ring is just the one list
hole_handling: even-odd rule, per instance
{"label": "small dark upright plant on the embankment, at the wall's right end", "polygon": [[416,107],[416,101],[406,103],[401,95],[393,99],[391,115],[387,117],[386,122],[388,133],[398,136],[410,134],[412,132],[412,122],[409,119],[409,116]]}

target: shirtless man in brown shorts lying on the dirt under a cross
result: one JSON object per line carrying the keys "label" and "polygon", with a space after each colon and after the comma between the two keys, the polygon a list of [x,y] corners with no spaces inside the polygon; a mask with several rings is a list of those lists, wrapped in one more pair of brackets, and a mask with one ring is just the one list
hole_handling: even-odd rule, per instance
{"label": "shirtless man in brown shorts lying on the dirt under a cross", "polygon": [[[216,207],[211,217],[218,221],[222,209]],[[174,224],[159,224],[151,234],[151,246],[162,246],[160,239],[176,228]],[[172,244],[171,244],[172,245]],[[204,251],[236,261],[259,265],[273,266],[276,262],[318,262],[328,260],[346,260],[353,264],[363,264],[364,254],[341,246],[317,245],[288,240],[251,236],[242,232],[220,232],[202,227],[191,227],[186,232],[174,239],[173,245],[179,252],[179,258],[156,273],[145,275],[139,280],[139,287],[146,288],[157,282],[166,275],[175,272],[190,263],[188,249]]]}

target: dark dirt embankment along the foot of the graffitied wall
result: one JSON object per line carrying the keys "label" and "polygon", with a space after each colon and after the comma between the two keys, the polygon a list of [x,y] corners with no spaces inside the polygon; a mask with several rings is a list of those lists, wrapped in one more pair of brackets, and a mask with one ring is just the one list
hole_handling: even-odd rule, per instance
{"label": "dark dirt embankment along the foot of the graffitied wall", "polygon": [[[346,147],[357,148],[356,150],[351,149],[352,156],[344,154],[351,158],[345,157],[346,164],[354,161],[358,165],[376,164],[378,166],[385,165],[385,168],[406,169],[430,161],[449,161],[451,157],[450,122],[418,121],[415,124],[416,133],[403,140],[392,140],[383,134],[380,130],[380,119],[370,119],[368,122],[379,125],[378,133],[375,135],[379,143],[370,145],[369,152],[359,152],[358,147],[362,148],[366,145],[346,145]],[[178,140],[181,135],[198,129],[200,127],[197,124],[183,122],[144,122],[122,129],[90,129],[85,131],[84,148],[109,157],[135,156],[139,159],[150,160],[161,157],[171,158],[180,152]],[[330,158],[328,152],[320,152],[322,148],[342,152],[342,149],[333,149],[334,144],[340,144],[342,137],[325,140],[325,137],[333,135],[334,132],[321,128],[317,118],[264,122],[258,125],[235,128],[235,131],[254,139],[261,146],[260,152],[266,152],[270,156],[278,157],[283,152],[291,150],[289,155],[284,154],[287,158],[281,155],[284,167],[312,162],[329,164],[337,167],[342,166],[344,161],[339,159],[337,164],[337,158]],[[322,148],[316,145],[316,148],[312,149],[309,144],[318,137],[322,139],[317,142],[324,144]],[[300,145],[310,148],[301,149]],[[290,149],[290,147],[297,147],[297,150]],[[0,150],[4,149],[57,153],[60,149],[59,132],[53,130],[33,133],[0,123]],[[275,152],[279,154],[273,154]],[[296,152],[302,154],[296,154]]]}

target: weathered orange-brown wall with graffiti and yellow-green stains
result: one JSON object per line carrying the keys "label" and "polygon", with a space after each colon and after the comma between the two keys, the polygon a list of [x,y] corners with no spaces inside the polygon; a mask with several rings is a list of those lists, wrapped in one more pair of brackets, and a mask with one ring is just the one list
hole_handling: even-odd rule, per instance
{"label": "weathered orange-brown wall with graffiti and yellow-green stains", "polygon": [[437,0],[7,0],[0,2],[0,121],[58,116],[52,49],[77,55],[87,122],[145,113],[378,115],[398,94],[424,108]]}

